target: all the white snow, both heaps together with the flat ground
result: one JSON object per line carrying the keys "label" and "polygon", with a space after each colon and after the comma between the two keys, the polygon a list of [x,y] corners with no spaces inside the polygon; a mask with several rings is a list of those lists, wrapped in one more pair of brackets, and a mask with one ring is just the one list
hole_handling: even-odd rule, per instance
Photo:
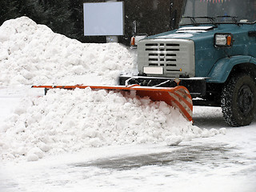
{"label": "all the white snow, both heaps together with the flat ground", "polygon": [[30,88],[115,85],[134,71],[126,47],[23,17],[0,27],[0,50],[0,192],[255,191],[255,121],[230,128],[219,108],[194,107],[192,125],[147,98]]}

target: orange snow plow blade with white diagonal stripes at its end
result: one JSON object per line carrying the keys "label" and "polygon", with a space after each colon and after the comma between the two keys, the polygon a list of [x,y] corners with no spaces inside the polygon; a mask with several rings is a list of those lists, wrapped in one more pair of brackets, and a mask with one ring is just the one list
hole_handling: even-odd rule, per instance
{"label": "orange snow plow blade with white diagonal stripes at its end", "polygon": [[90,87],[92,90],[136,90],[136,95],[149,97],[152,101],[166,102],[170,106],[178,108],[182,115],[189,121],[192,121],[193,103],[190,92],[184,86],[175,87],[152,87],[152,86],[32,86],[32,88],[66,89],[74,90],[76,88],[85,89]]}

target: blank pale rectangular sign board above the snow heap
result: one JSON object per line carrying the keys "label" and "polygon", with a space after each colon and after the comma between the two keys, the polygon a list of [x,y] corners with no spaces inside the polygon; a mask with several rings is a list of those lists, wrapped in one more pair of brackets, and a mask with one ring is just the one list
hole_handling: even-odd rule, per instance
{"label": "blank pale rectangular sign board above the snow heap", "polygon": [[123,35],[123,2],[84,3],[84,34]]}

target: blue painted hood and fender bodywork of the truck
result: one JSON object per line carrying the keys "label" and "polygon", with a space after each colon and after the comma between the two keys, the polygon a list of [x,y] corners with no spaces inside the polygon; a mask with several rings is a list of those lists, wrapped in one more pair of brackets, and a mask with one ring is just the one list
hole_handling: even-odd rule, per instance
{"label": "blue painted hood and fender bodywork of the truck", "polygon": [[[210,78],[208,82],[225,82],[235,65],[245,62],[256,64],[256,37],[250,37],[248,35],[250,31],[256,31],[256,24],[218,24],[206,32],[191,33],[184,31],[184,33],[177,33],[177,30],[173,30],[149,38],[185,38],[193,40],[195,76]],[[233,45],[231,47],[215,47],[214,34],[216,33],[232,34]]]}

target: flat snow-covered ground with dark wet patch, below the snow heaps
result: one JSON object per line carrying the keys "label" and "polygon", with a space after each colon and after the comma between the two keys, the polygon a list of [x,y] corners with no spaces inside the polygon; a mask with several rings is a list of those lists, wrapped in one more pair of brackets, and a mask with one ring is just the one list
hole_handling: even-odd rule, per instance
{"label": "flat snow-covered ground with dark wet patch, below the snow heaps", "polygon": [[[18,96],[3,95],[6,116]],[[1,110],[2,111],[2,110]],[[219,108],[194,107],[194,124],[220,129]],[[88,147],[37,162],[4,162],[0,191],[243,191],[256,184],[256,122],[226,135],[165,143]]]}

